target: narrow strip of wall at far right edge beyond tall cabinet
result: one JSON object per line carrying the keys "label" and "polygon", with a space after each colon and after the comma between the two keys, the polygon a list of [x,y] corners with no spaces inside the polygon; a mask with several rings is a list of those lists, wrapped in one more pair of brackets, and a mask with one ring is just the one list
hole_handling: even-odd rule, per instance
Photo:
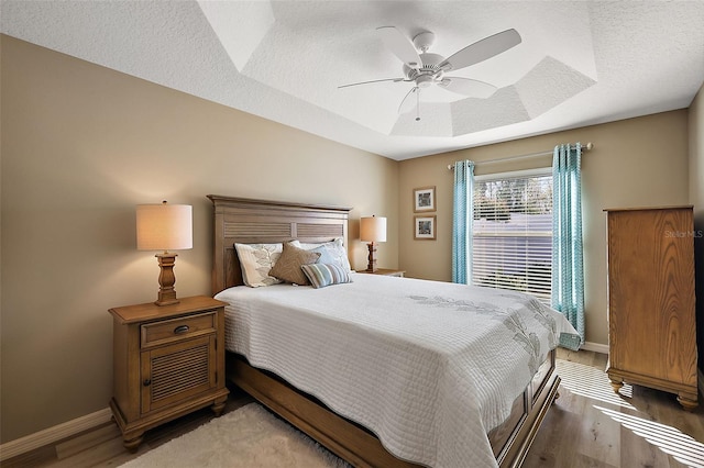
{"label": "narrow strip of wall at far right edge beyond tall cabinet", "polygon": [[696,342],[698,367],[704,369],[704,86],[689,109],[690,203],[694,205],[696,268]]}

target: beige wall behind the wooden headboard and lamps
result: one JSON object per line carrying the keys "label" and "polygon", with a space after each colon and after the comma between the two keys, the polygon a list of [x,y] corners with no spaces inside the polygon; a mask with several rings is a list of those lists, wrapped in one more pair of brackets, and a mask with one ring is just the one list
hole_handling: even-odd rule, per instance
{"label": "beige wall behind the wooden headboard and lamps", "polygon": [[107,408],[111,307],[156,298],[134,205],[194,205],[179,296],[210,293],[208,193],[354,207],[388,219],[398,163],[2,36],[2,442]]}

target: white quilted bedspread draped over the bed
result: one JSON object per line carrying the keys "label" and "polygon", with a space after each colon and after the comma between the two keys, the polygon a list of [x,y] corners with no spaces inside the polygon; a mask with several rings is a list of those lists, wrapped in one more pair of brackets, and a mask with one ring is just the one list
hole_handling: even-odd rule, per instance
{"label": "white quilted bedspread draped over the bed", "polygon": [[230,288],[227,348],[432,467],[495,467],[510,413],[563,317],[516,292],[376,275],[322,289]]}

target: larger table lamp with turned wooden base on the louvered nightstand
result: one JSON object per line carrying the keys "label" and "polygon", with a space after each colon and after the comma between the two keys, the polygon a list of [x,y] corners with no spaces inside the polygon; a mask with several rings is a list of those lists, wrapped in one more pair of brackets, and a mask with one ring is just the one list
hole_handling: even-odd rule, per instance
{"label": "larger table lamp with turned wooden base on the louvered nightstand", "polygon": [[161,272],[156,305],[178,303],[174,283],[177,254],[168,250],[193,248],[193,208],[189,204],[168,204],[166,201],[136,207],[136,248],[163,250],[156,254]]}

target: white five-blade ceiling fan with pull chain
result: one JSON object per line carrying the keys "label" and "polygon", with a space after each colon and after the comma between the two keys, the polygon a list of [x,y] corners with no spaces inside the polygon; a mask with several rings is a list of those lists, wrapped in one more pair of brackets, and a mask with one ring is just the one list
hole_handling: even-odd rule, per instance
{"label": "white five-blade ceiling fan with pull chain", "polygon": [[[433,85],[448,91],[473,98],[485,99],[491,97],[496,91],[495,86],[471,78],[446,76],[446,73],[459,70],[492,58],[520,44],[521,41],[516,30],[506,30],[470,44],[444,58],[441,55],[428,52],[436,38],[436,35],[431,32],[421,32],[414,36],[413,41],[394,26],[377,27],[376,32],[384,45],[404,63],[404,77],[361,81],[338,88],[383,81],[414,82],[414,87],[398,107],[398,113],[408,112],[414,107],[418,108],[420,91]],[[416,99],[413,99],[414,97]],[[416,115],[416,120],[420,120],[419,114]]]}

